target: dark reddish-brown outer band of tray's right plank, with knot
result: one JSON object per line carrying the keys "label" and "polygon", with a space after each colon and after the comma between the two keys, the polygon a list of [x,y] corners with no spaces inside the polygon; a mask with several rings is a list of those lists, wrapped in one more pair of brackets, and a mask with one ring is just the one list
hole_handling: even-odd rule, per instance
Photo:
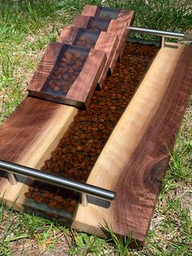
{"label": "dark reddish-brown outer band of tray's right plank, with knot", "polygon": [[151,120],[142,143],[127,161],[116,185],[112,218],[116,219],[114,232],[118,234],[125,235],[133,231],[133,236],[141,241],[146,236],[161,180],[168,166],[169,152],[172,152],[192,89],[191,55],[192,47],[185,46],[158,115]]}

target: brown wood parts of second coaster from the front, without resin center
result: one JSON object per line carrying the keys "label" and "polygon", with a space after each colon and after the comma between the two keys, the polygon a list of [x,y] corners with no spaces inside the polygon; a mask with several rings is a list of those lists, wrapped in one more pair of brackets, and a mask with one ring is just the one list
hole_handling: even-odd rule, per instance
{"label": "brown wood parts of second coaster from the front, without resin center", "polygon": [[[92,34],[94,36],[94,34],[97,33],[89,29],[81,29],[81,28],[76,28],[72,26],[64,27],[60,34],[59,42],[76,45],[76,41],[79,38],[79,35],[81,33],[83,34],[83,32],[85,33],[89,32],[90,38]],[[105,77],[107,76],[109,67],[111,66],[114,67],[116,64],[116,59],[119,55],[118,45],[119,45],[119,39],[115,33],[101,32],[99,33],[98,39],[95,41],[94,49],[105,51],[107,54],[107,61],[103,68],[103,73],[101,74],[101,77],[99,78],[99,81],[98,81],[98,85],[100,86],[100,88],[102,88],[103,86],[103,82]],[[113,61],[115,61],[115,63],[112,63]]]}

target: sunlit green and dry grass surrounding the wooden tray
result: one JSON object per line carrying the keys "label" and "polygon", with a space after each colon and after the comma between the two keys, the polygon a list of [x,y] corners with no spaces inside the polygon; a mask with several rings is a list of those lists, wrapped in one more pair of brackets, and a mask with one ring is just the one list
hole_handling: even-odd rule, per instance
{"label": "sunlit green and dry grass surrounding the wooden tray", "polygon": [[[57,40],[63,25],[71,24],[85,3],[101,2],[0,0],[0,122],[24,99],[26,86],[48,42]],[[136,11],[135,26],[190,35],[190,1],[106,0],[103,5]],[[189,35],[185,40],[191,40]],[[130,249],[130,236],[120,239],[109,227],[110,238],[105,241],[44,218],[7,210],[1,203],[0,255],[191,255],[191,203],[185,207],[192,197],[191,112],[192,98],[142,249]]]}

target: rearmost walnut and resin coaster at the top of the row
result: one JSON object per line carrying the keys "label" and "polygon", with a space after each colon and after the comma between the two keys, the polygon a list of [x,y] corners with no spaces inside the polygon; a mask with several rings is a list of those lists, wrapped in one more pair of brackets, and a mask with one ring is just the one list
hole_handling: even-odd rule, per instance
{"label": "rearmost walnut and resin coaster at the top of the row", "polygon": [[134,11],[119,10],[109,7],[97,7],[93,5],[85,5],[82,15],[95,16],[105,19],[122,20],[127,25],[133,24]]}

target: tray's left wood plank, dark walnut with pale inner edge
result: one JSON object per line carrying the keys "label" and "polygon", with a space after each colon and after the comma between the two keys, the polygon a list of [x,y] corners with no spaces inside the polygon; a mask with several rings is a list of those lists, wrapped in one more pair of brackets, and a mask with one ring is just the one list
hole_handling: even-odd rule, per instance
{"label": "tray's left wood plank, dark walnut with pale inner edge", "polygon": [[[76,113],[76,108],[27,97],[0,126],[0,159],[40,169]],[[30,206],[25,202],[26,184],[11,186],[7,179],[0,178],[0,188],[7,207],[16,199],[15,210]]]}

